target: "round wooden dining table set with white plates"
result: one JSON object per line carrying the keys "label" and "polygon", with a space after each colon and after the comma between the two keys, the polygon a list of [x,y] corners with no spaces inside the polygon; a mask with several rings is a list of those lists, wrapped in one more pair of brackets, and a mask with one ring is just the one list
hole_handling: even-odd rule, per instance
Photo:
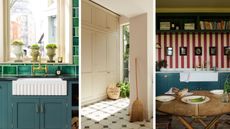
{"label": "round wooden dining table set with white plates", "polygon": [[[191,117],[194,121],[200,122],[205,129],[212,128],[220,117],[230,113],[230,103],[223,103],[221,95],[212,94],[209,91],[193,91],[193,95],[207,96],[210,100],[203,104],[187,104],[181,101],[181,97],[168,102],[156,102],[156,110],[176,116],[188,129],[193,129],[192,123],[185,117]],[[203,119],[212,116],[213,119],[206,123]]]}

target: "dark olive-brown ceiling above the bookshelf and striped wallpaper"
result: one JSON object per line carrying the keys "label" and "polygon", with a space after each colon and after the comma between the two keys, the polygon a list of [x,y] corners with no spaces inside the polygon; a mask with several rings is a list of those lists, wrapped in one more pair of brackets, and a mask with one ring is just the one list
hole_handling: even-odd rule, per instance
{"label": "dark olive-brown ceiling above the bookshelf and striped wallpaper", "polygon": [[228,8],[230,0],[156,0],[157,8]]}

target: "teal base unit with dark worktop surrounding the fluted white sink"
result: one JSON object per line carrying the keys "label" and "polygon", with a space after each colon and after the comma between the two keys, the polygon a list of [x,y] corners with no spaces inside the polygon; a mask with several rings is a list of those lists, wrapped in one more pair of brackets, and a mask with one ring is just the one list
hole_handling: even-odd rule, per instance
{"label": "teal base unit with dark worktop surrounding the fluted white sink", "polygon": [[[71,129],[72,96],[78,96],[78,77],[67,81],[67,95],[13,95],[12,80],[0,78],[0,129]],[[75,94],[72,94],[72,93]],[[77,104],[76,104],[77,103]]]}

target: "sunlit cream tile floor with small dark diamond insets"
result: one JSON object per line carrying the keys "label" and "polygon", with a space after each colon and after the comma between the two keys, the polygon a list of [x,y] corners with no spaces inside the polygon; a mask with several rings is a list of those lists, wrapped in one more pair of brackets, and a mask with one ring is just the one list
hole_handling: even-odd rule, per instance
{"label": "sunlit cream tile floor with small dark diamond insets", "polygon": [[152,129],[149,122],[130,123],[129,99],[106,100],[82,108],[82,129]]}

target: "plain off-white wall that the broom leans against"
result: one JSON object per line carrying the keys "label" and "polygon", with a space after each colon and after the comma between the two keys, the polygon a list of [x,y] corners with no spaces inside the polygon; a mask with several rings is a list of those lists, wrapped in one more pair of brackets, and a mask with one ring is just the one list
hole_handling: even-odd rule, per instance
{"label": "plain off-white wall that the broom leans against", "polygon": [[[153,27],[152,13],[141,14],[130,18],[130,100],[131,105],[136,99],[135,83],[135,58],[138,60],[137,75],[139,86],[139,98],[144,105],[144,118],[149,120],[152,117],[152,37]],[[150,29],[149,29],[150,28]],[[152,36],[151,36],[152,35]]]}

